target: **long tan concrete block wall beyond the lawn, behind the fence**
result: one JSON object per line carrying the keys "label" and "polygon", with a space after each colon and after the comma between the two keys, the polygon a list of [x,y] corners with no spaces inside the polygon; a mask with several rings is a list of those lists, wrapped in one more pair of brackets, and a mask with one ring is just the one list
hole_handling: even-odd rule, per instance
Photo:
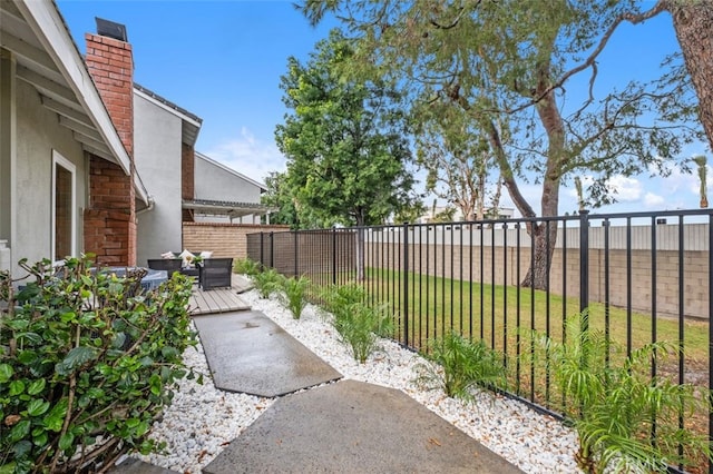
{"label": "long tan concrete block wall beyond the lawn, behind the fence", "polygon": [[[486,284],[517,286],[522,280],[530,264],[530,249],[515,247],[482,247],[430,245],[419,249],[409,245],[409,269],[423,275]],[[367,261],[381,263],[383,268],[400,270],[403,265],[403,245],[398,243],[367,244]],[[710,295],[707,251],[683,253],[683,280],[680,279],[678,251],[657,250],[655,267],[652,266],[651,250],[631,251],[631,276],[627,277],[627,255],[625,250],[608,250],[608,300],[612,305],[626,307],[627,284],[631,279],[632,308],[648,313],[653,307],[653,292],[656,293],[656,312],[660,316],[677,316],[680,283],[683,286],[684,314],[688,317],[709,318]],[[603,249],[589,250],[588,292],[590,302],[605,302],[607,261]],[[519,258],[519,259],[518,259]],[[373,263],[373,264],[371,264]],[[495,265],[494,265],[495,263]],[[654,279],[655,268],[655,279]],[[494,271],[495,269],[495,271]],[[579,297],[580,260],[579,249],[556,248],[550,267],[550,292],[557,295]],[[566,278],[565,278],[566,277]],[[655,289],[652,287],[656,284]]]}

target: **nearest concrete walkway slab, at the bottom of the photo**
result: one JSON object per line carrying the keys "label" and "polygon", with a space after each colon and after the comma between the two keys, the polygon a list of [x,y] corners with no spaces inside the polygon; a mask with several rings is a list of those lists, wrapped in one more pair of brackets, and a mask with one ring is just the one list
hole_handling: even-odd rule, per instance
{"label": "nearest concrete walkway slab, at the bottom of the photo", "polygon": [[203,472],[520,471],[403,392],[342,381],[279,399]]}

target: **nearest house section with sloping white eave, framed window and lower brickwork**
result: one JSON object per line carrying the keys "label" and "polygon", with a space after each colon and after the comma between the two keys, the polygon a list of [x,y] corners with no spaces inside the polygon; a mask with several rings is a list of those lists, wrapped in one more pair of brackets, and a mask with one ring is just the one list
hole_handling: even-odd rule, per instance
{"label": "nearest house section with sloping white eave, framed window and lower brickwork", "polygon": [[[94,248],[131,265],[134,209],[148,203],[130,142],[110,116],[115,101],[105,102],[57,4],[3,1],[0,18],[0,269],[19,279],[22,258],[59,260]],[[125,241],[110,240],[119,226]],[[89,248],[97,241],[114,245]]]}

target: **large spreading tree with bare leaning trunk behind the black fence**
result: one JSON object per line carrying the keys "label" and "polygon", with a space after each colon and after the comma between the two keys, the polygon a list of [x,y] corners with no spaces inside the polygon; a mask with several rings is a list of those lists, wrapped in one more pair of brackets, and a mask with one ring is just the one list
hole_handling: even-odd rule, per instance
{"label": "large spreading tree with bare leaning trunk behind the black fence", "polygon": [[[597,59],[613,32],[648,18],[637,1],[305,0],[301,8],[312,21],[328,11],[344,21],[356,76],[377,70],[408,82],[413,110],[448,103],[467,112],[468,132],[486,137],[525,217],[538,207],[557,216],[563,182],[582,174],[590,205],[607,203],[609,178],[665,175],[671,161],[684,161],[683,145],[702,138],[691,127],[695,95],[680,58],[660,80],[597,93]],[[573,92],[575,80],[585,93]],[[538,204],[525,198],[527,182],[540,186]],[[549,235],[544,227],[528,225],[536,257],[524,283],[536,287],[556,243],[556,226]]]}

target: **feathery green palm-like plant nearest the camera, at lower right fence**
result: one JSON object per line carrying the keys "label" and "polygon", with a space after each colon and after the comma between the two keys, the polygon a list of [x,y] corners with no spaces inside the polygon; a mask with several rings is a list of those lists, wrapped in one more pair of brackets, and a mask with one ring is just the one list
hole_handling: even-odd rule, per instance
{"label": "feathery green palm-like plant nearest the camera, at lower right fence", "polygon": [[[579,435],[579,466],[592,473],[665,472],[666,464],[685,465],[696,455],[710,456],[706,436],[678,426],[678,416],[709,413],[710,393],[651,376],[652,361],[661,365],[663,358],[678,354],[677,347],[647,344],[625,357],[623,347],[603,333],[582,328],[587,317],[585,313],[569,322],[565,344],[539,337],[566,396],[565,413]],[[623,364],[611,362],[621,358]]]}

